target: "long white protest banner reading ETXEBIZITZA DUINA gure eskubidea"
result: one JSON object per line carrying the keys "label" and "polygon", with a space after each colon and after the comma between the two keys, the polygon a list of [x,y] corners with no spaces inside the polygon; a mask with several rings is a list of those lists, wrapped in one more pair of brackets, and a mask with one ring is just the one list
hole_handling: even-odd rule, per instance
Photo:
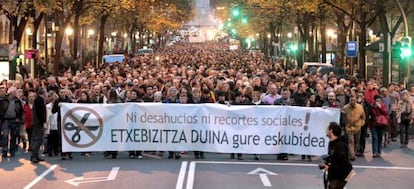
{"label": "long white protest banner reading ETXEBIZITZA DUINA gure eskubidea", "polygon": [[327,153],[339,109],[221,104],[61,104],[62,148],[82,151]]}

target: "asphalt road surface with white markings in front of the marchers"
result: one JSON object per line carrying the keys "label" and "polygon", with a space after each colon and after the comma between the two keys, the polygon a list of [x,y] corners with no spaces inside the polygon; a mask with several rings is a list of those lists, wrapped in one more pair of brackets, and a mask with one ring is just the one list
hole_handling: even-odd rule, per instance
{"label": "asphalt road surface with white markings in front of the marchers", "polygon": [[[353,162],[356,175],[346,188],[413,188],[413,142],[408,149],[391,143],[382,158],[372,158],[368,145],[365,157]],[[94,152],[90,157],[75,154],[72,160],[45,157],[39,164],[32,164],[29,157],[19,151],[16,157],[0,161],[0,189],[323,188],[319,157],[309,162],[290,155],[289,160],[278,161],[275,155],[263,155],[256,161],[248,154],[244,160],[235,160],[229,154],[206,153],[205,159],[198,160],[188,152],[178,160],[147,153],[143,159],[129,159],[127,152],[120,152],[118,159],[105,159],[102,153]]]}

